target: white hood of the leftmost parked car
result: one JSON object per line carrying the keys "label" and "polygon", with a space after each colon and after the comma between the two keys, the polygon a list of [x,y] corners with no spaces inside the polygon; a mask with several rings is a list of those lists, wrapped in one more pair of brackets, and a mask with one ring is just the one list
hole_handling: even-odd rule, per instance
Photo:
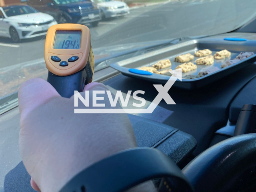
{"label": "white hood of the leftmost parked car", "polygon": [[44,23],[53,20],[53,17],[45,13],[30,13],[24,15],[16,15],[9,17],[17,22],[21,23]]}

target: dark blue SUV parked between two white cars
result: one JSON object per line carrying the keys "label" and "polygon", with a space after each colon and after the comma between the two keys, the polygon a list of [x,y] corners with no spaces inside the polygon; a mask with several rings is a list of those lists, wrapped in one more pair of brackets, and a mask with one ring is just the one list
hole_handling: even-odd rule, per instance
{"label": "dark blue SUV parked between two white cars", "polygon": [[100,9],[86,0],[28,0],[28,5],[52,15],[58,23],[91,23],[98,25]]}

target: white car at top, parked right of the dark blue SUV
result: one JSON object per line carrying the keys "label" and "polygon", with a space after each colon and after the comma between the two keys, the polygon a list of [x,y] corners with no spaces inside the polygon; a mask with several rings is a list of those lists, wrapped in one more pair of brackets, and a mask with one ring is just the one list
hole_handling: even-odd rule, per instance
{"label": "white car at top, parked right of the dark blue SUV", "polygon": [[102,17],[111,18],[123,16],[130,13],[130,8],[125,2],[113,0],[92,0],[96,2],[102,10]]}

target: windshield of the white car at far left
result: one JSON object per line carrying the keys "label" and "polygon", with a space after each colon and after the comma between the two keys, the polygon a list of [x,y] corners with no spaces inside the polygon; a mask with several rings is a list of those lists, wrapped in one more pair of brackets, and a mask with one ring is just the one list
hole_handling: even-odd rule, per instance
{"label": "windshield of the white car at far left", "polygon": [[36,13],[37,11],[29,6],[10,6],[3,8],[6,16],[24,15],[30,13]]}

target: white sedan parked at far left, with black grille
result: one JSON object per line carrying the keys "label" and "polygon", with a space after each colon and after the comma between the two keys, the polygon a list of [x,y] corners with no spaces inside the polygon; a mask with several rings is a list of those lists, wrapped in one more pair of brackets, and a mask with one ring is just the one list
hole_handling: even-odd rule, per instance
{"label": "white sedan parked at far left, with black grille", "polygon": [[52,16],[28,5],[0,7],[0,36],[11,38],[14,42],[46,35],[48,28],[55,24],[57,22]]}

